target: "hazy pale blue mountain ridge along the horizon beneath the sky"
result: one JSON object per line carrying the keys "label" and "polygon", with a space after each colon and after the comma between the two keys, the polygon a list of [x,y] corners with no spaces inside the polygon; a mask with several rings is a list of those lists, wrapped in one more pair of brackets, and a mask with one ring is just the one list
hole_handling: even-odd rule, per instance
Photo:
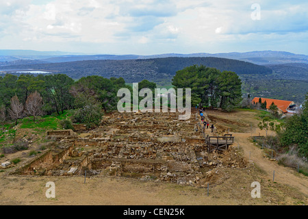
{"label": "hazy pale blue mountain ridge along the horizon beneath the sky", "polygon": [[253,64],[308,64],[308,55],[294,54],[285,51],[250,51],[232,53],[166,53],[157,55],[86,55],[80,53],[67,53],[62,51],[31,51],[31,50],[0,50],[0,62],[14,60],[41,60],[43,62],[75,62],[84,60],[138,60],[162,57],[222,57],[233,60],[251,62]]}

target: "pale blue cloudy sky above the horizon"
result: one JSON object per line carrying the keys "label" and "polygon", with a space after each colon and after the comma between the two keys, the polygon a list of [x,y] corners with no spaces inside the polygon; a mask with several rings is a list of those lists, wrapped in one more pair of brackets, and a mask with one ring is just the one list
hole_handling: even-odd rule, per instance
{"label": "pale blue cloudy sky above the horizon", "polygon": [[308,55],[307,45],[307,0],[0,0],[0,49]]}

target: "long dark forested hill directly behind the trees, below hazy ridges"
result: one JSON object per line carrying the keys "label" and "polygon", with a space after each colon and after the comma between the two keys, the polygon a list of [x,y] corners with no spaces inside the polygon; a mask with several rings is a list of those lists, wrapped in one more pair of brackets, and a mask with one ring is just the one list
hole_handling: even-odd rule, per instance
{"label": "long dark forested hill directly behind the trees, below hazy ridges", "polygon": [[23,64],[1,66],[0,70],[46,70],[58,71],[79,79],[88,75],[100,75],[106,78],[123,77],[127,82],[138,82],[142,79],[157,81],[162,78],[170,80],[177,70],[187,66],[205,65],[219,70],[231,70],[239,75],[266,75],[272,70],[249,62],[229,60],[218,57],[167,57],[139,60],[88,60],[77,62]]}

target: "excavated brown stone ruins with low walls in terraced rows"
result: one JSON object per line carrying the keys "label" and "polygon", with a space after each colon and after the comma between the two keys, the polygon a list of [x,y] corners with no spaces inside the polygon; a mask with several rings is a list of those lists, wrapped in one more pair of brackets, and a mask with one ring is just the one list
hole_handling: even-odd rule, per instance
{"label": "excavated brown stone ruins with low walls in terraced rows", "polygon": [[[178,120],[178,113],[112,113],[102,125],[85,131],[49,131],[53,146],[12,172],[14,175],[119,176],[205,186],[223,180],[223,168],[245,168],[237,151],[209,153],[198,115]],[[195,117],[196,116],[196,117]],[[218,171],[220,170],[220,171]]]}

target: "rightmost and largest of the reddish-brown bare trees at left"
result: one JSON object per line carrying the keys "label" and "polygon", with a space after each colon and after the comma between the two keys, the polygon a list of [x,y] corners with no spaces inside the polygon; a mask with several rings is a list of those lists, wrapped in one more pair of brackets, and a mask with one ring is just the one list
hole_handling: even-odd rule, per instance
{"label": "rightmost and largest of the reddish-brown bare trees at left", "polygon": [[33,116],[33,120],[36,120],[36,116],[42,115],[42,96],[36,91],[31,93],[27,97],[27,101],[25,103],[25,113],[29,116]]}

